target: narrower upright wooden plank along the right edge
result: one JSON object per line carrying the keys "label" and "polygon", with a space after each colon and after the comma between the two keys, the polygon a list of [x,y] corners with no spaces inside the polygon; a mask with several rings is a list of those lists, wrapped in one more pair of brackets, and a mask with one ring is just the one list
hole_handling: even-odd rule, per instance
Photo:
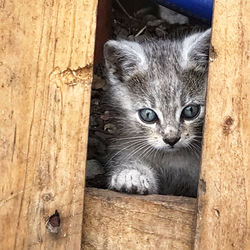
{"label": "narrower upright wooden plank along the right edge", "polygon": [[250,1],[215,0],[195,249],[250,249]]}

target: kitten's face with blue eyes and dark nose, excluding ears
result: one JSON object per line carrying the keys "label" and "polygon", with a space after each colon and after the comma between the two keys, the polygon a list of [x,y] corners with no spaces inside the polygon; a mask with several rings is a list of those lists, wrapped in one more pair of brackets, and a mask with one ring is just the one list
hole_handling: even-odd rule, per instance
{"label": "kitten's face with blue eyes and dark nose, excluding ears", "polygon": [[[195,74],[187,72],[165,72],[165,77],[162,75],[160,79],[152,77],[152,73],[145,73],[141,84],[146,88],[141,93],[139,88],[137,91],[133,88],[124,103],[127,105],[124,111],[127,124],[131,124],[128,125],[130,131],[133,136],[146,136],[145,140],[159,150],[175,151],[192,147],[193,142],[201,139],[205,79],[201,82]],[[194,86],[195,82],[190,86],[189,77],[199,81],[202,87]],[[173,84],[169,79],[175,79]],[[136,84],[133,81],[132,78],[129,84]]]}

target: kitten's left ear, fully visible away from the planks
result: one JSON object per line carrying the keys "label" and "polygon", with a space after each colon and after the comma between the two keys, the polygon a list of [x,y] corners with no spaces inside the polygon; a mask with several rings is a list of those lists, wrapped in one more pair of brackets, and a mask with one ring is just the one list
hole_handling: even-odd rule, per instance
{"label": "kitten's left ear, fully visible away from the planks", "polygon": [[104,45],[104,58],[108,73],[117,77],[129,78],[147,68],[144,50],[136,42],[110,40]]}

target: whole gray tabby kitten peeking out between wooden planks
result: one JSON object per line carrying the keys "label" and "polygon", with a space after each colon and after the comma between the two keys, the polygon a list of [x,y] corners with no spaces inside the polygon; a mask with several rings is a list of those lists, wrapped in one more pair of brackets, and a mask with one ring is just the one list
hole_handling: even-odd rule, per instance
{"label": "whole gray tabby kitten peeking out between wooden planks", "polygon": [[108,163],[110,189],[196,196],[210,33],[105,44],[120,131]]}

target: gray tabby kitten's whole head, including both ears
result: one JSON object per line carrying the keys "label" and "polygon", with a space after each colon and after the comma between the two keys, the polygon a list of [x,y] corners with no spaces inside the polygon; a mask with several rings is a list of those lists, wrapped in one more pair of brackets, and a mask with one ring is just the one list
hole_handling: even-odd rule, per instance
{"label": "gray tabby kitten's whole head, including both ears", "polygon": [[122,137],[156,150],[195,150],[202,136],[209,33],[142,45],[108,42],[106,65]]}

